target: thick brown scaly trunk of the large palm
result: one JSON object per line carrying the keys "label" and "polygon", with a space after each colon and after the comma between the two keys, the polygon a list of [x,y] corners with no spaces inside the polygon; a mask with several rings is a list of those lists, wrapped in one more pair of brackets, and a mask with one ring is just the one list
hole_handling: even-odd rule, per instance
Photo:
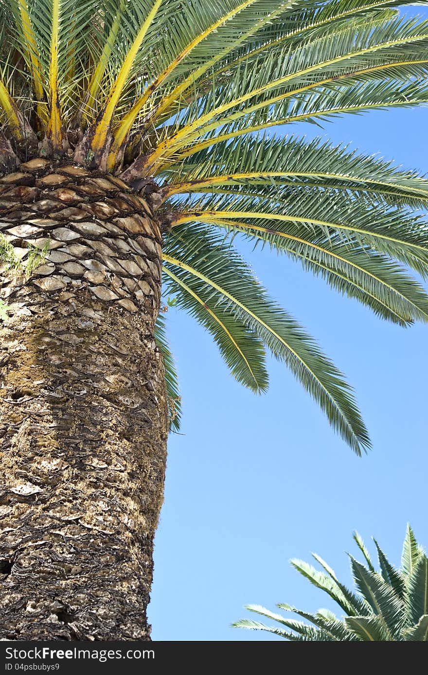
{"label": "thick brown scaly trunk of the large palm", "polygon": [[[0,638],[149,640],[167,402],[160,232],[111,176],[36,159],[0,180]],[[49,216],[47,216],[49,214]]]}

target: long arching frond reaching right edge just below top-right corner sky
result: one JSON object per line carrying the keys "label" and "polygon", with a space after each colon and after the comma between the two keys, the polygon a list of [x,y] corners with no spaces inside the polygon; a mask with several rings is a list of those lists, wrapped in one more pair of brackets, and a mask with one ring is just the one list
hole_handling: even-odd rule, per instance
{"label": "long arching frond reaching right edge just below top-right corner sky", "polygon": [[[185,146],[192,134],[202,136],[220,128],[225,113],[227,121],[246,117],[255,109],[271,106],[284,96],[296,97],[307,86],[326,88],[332,84],[334,87],[340,76],[346,77],[348,85],[355,84],[361,79],[360,71],[365,79],[370,68],[377,72],[379,66],[392,63],[396,65],[394,79],[400,79],[397,64],[408,60],[422,61],[427,41],[427,22],[398,18],[381,26],[371,26],[371,30],[356,30],[350,22],[340,32],[303,43],[283,58],[278,59],[276,53],[263,55],[259,63],[251,63],[251,68],[245,62],[228,79],[226,86],[207,92],[196,107],[189,109],[189,114],[183,115],[177,132],[145,159],[144,171],[152,171],[160,157]],[[407,77],[406,73],[405,79]]]}

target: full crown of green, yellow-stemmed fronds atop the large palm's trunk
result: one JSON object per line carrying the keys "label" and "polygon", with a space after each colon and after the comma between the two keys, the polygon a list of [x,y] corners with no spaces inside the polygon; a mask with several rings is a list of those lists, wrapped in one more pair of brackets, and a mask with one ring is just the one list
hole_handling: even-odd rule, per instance
{"label": "full crown of green, yellow-stemmed fronds atop the large palm's trunk", "polygon": [[[340,371],[233,246],[285,253],[377,315],[426,321],[428,181],[274,126],[427,103],[428,22],[391,0],[0,0],[0,157],[111,171],[164,227],[164,288],[265,391],[265,350],[357,453]],[[164,344],[162,327],[160,340]],[[166,349],[166,347],[164,347]],[[171,364],[171,358],[168,362]],[[171,396],[177,399],[175,375]],[[178,419],[178,416],[177,416]]]}

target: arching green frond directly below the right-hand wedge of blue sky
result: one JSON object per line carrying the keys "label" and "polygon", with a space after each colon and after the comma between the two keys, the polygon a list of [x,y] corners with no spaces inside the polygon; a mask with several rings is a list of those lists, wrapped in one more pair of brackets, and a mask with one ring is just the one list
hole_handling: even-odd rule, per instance
{"label": "arching green frond directly below the right-hand wedge of blue sky", "polygon": [[[387,204],[423,208],[428,180],[392,163],[349,152],[319,138],[239,138],[200,151],[166,172],[165,198],[185,192],[216,192],[218,186],[283,184],[319,186],[363,194]],[[263,192],[262,192],[263,194]]]}

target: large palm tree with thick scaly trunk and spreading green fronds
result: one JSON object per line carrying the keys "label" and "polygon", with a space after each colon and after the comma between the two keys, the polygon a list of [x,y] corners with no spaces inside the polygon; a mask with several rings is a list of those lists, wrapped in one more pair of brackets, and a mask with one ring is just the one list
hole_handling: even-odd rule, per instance
{"label": "large palm tree with thick scaly trunk and spreading green fronds", "polygon": [[2,639],[150,639],[180,414],[161,291],[243,385],[266,391],[268,350],[369,447],[340,371],[233,238],[427,320],[403,266],[428,272],[428,181],[269,131],[427,103],[428,22],[398,4],[0,0]]}

